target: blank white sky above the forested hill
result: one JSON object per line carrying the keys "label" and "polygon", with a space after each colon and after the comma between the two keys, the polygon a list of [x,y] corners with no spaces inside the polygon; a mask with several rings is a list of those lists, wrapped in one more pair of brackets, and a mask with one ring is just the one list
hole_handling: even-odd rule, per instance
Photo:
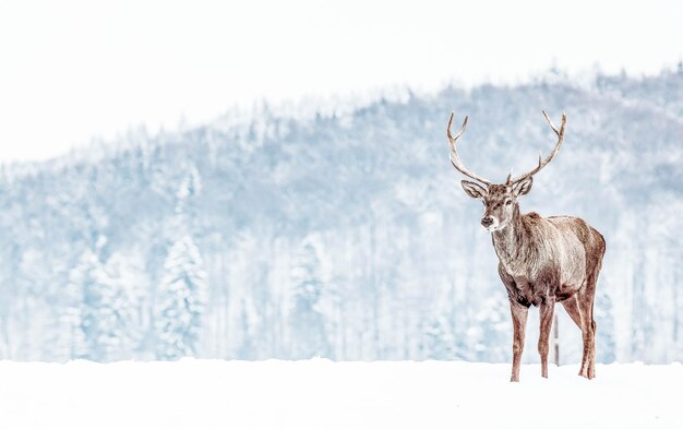
{"label": "blank white sky above the forested hill", "polygon": [[0,0],[0,160],[230,107],[551,64],[656,73],[683,59],[683,2]]}

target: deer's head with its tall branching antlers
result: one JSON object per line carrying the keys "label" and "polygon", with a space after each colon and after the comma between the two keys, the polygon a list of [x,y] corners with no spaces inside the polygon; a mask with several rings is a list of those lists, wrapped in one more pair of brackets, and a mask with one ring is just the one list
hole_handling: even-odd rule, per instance
{"label": "deer's head with its tall branching antlers", "polygon": [[[513,219],[515,213],[519,212],[519,205],[517,203],[517,199],[522,195],[526,195],[531,190],[531,184],[534,183],[534,175],[540,171],[543,167],[546,167],[552,158],[560,151],[560,146],[562,146],[562,141],[564,139],[564,126],[566,123],[566,115],[562,114],[562,127],[558,129],[548,115],[543,111],[543,116],[546,120],[550,124],[550,128],[558,135],[558,143],[555,147],[552,150],[550,155],[543,159],[541,155],[538,156],[538,166],[532,170],[517,176],[512,177],[507,175],[507,180],[502,184],[494,184],[491,181],[483,179],[474,172],[470,172],[463,162],[460,160],[460,156],[457,153],[457,140],[465,132],[465,128],[467,127],[467,117],[465,117],[465,121],[463,122],[463,127],[460,127],[460,131],[458,131],[455,136],[451,134],[451,126],[453,124],[453,114],[451,114],[451,119],[448,120],[447,135],[448,142],[451,143],[451,164],[455,167],[456,170],[460,171],[465,176],[477,180],[477,182],[463,180],[460,183],[463,184],[463,189],[465,189],[465,193],[474,199],[481,200],[484,205],[483,217],[481,218],[481,225],[489,233],[493,233],[498,229],[505,228],[510,222]],[[478,183],[479,182],[479,183]],[[480,184],[481,183],[481,184]]]}

